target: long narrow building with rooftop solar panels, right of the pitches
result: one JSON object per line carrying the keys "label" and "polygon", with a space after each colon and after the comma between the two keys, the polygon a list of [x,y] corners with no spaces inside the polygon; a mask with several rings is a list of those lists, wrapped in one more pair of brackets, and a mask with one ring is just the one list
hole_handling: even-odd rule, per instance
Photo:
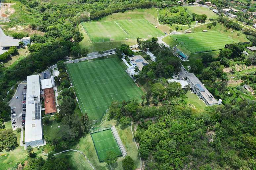
{"label": "long narrow building with rooftop solar panels, right of the pitches", "polygon": [[[204,101],[207,106],[213,106],[221,104],[212,96],[212,94],[207,90],[207,88],[201,83],[201,81],[194,75],[194,73],[185,74],[185,78],[188,84],[192,88],[192,91]],[[221,100],[220,100],[221,101]]]}

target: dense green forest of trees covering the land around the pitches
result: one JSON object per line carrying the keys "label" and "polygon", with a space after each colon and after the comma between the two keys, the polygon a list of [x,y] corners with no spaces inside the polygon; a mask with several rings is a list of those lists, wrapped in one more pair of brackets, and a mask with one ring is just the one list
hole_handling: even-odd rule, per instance
{"label": "dense green forest of trees covering the land around the pitches", "polygon": [[[7,2],[8,0],[6,0]],[[30,54],[10,67],[0,65],[0,129],[2,123],[10,119],[7,91],[17,81],[26,79],[33,73],[40,73],[48,66],[56,64],[60,76],[55,77],[58,85],[64,87],[60,112],[55,119],[62,126],[60,135],[56,138],[45,136],[48,143],[61,151],[68,148],[68,143],[78,140],[88,133],[90,124],[87,114],[77,114],[78,108],[75,96],[68,89],[70,82],[65,71],[63,61],[66,57],[77,58],[86,56],[87,50],[81,49],[78,43],[83,35],[77,31],[77,25],[82,21],[100,19],[115,12],[124,12],[136,8],[166,8],[177,12],[180,5],[177,1],[86,1],[74,0],[64,4],[39,2],[36,0],[19,0],[26,10],[32,13],[33,23],[29,23],[32,30],[39,30],[42,35],[29,35],[32,45],[29,45]],[[189,0],[192,2],[193,0]],[[221,9],[227,5],[226,1],[211,1]],[[90,16],[88,15],[90,13]],[[204,22],[204,15],[184,15],[179,17],[159,16],[165,24],[188,24],[192,21]],[[209,19],[209,18],[208,18]],[[219,17],[215,20],[227,28],[241,30],[235,22]],[[213,22],[214,23],[214,22]],[[4,28],[13,25],[26,24],[23,21],[11,20]],[[243,33],[256,44],[255,32],[244,29]],[[20,38],[25,34],[10,34]],[[256,64],[255,54],[245,57],[242,52],[245,44],[232,44],[220,51],[217,58],[209,54],[202,55],[201,59],[191,61],[191,72],[202,81],[207,89],[217,98],[223,99],[223,105],[206,107],[202,112],[193,109],[185,101],[185,94],[190,89],[182,89],[180,84],[167,84],[167,78],[180,71],[180,60],[173,56],[173,51],[158,47],[157,38],[140,41],[141,49],[149,49],[157,56],[156,62],[144,66],[136,77],[139,82],[146,82],[148,89],[142,95],[142,103],[137,100],[113,102],[108,119],[115,119],[126,127],[134,122],[135,139],[139,143],[139,153],[145,162],[145,169],[255,169],[256,153],[256,119],[255,98],[244,98],[245,90],[241,85],[228,86],[229,80],[223,68],[231,65],[231,61],[247,66]],[[128,45],[123,44],[117,51],[127,56],[134,53]],[[0,56],[0,60],[10,58],[17,53],[11,49]],[[233,66],[235,67],[235,65]],[[235,68],[234,68],[235,69]],[[256,88],[256,73],[241,77],[243,84]],[[248,93],[248,92],[247,92]],[[44,123],[49,123],[49,117]],[[14,150],[18,146],[17,137],[10,130],[0,131],[0,150]],[[29,153],[29,152],[28,152]],[[129,160],[127,160],[129,161]],[[70,165],[64,158],[54,158],[49,155],[46,160],[38,159],[29,153],[25,169],[69,169]]]}

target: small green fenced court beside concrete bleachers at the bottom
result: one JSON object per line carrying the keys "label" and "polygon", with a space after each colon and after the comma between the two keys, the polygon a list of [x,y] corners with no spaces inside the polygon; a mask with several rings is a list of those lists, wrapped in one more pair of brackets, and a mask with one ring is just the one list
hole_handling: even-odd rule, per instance
{"label": "small green fenced court beside concrete bleachers at the bottom", "polygon": [[122,156],[111,129],[93,133],[91,136],[100,162],[106,159],[109,151],[113,151],[117,157]]}

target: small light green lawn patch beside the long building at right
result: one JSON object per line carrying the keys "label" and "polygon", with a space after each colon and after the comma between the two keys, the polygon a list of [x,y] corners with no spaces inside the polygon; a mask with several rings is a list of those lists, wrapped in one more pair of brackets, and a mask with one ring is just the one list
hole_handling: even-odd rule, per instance
{"label": "small light green lawn patch beside the long building at right", "polygon": [[188,105],[191,104],[198,111],[203,111],[204,108],[206,107],[206,104],[201,99],[199,99],[196,94],[192,93],[191,91],[188,91],[185,96],[185,101],[188,102]]}

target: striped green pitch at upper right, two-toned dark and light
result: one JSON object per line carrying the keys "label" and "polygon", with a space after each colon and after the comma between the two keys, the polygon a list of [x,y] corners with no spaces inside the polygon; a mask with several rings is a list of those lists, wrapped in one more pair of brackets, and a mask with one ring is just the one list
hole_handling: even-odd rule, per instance
{"label": "striped green pitch at upper right, two-toned dark and light", "polygon": [[226,44],[236,42],[217,31],[176,34],[171,37],[192,53],[221,50]]}

